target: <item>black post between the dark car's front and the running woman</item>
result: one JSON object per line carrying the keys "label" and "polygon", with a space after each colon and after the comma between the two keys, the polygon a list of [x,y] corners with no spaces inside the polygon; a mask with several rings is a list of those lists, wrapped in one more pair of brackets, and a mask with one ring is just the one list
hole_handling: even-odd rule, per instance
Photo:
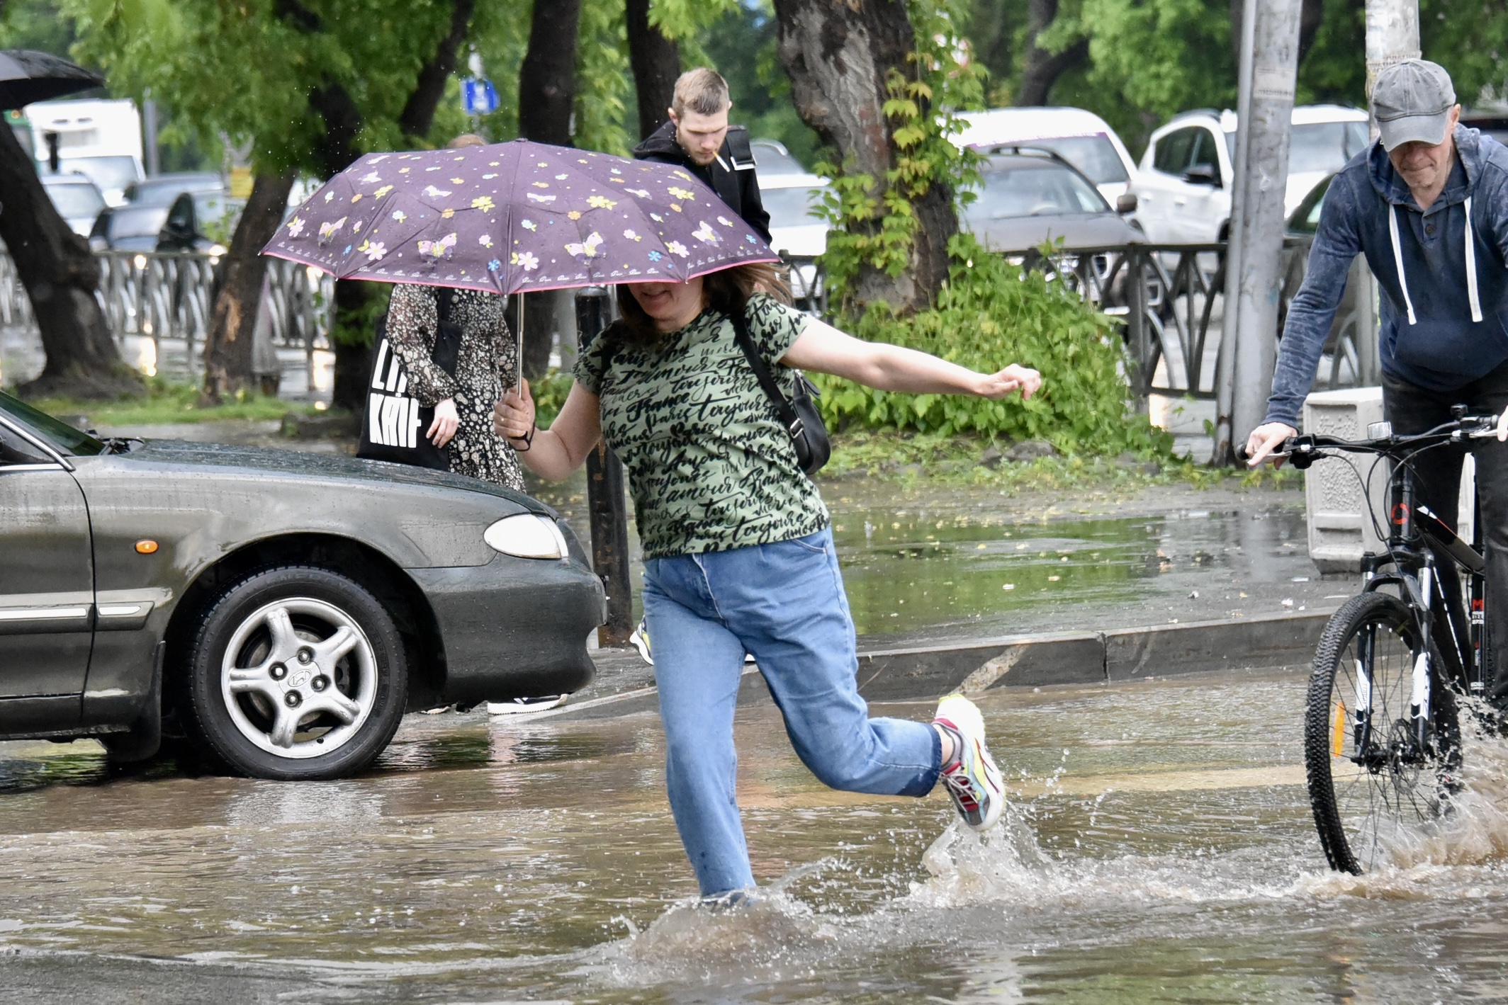
{"label": "black post between the dark car's front and the running woman", "polygon": [[[576,292],[576,330],[585,350],[612,319],[612,297],[605,286]],[[597,645],[627,645],[633,631],[633,592],[629,585],[629,502],[623,461],[602,440],[587,455],[587,509],[591,514],[591,568],[608,594],[608,624],[597,628]]]}

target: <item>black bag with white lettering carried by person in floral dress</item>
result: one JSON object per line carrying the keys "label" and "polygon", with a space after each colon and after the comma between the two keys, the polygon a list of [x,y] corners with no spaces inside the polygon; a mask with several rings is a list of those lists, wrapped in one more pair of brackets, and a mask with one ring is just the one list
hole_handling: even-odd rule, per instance
{"label": "black bag with white lettering carried by person in floral dress", "polygon": [[[434,291],[434,351],[430,359],[455,377],[461,350],[461,327],[451,319],[451,291]],[[362,414],[356,457],[448,472],[451,448],[434,446],[425,431],[434,422],[434,407],[409,395],[409,374],[388,341],[388,316],[377,319],[372,371],[366,378],[366,408]]]}

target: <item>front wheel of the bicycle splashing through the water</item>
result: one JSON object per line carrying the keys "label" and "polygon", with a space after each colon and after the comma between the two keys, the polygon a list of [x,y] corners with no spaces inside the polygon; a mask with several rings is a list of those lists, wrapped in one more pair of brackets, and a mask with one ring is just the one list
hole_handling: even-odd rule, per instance
{"label": "front wheel of the bicycle splashing through the water", "polygon": [[1353,597],[1320,639],[1304,713],[1304,768],[1333,869],[1372,871],[1448,808],[1461,762],[1455,693],[1440,677],[1431,643],[1431,714],[1421,737],[1411,708],[1421,654],[1413,613],[1387,594]]}

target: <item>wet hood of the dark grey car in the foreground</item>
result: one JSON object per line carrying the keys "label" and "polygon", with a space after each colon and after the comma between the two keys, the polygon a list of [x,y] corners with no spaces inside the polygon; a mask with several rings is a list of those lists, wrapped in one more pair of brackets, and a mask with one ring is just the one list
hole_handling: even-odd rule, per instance
{"label": "wet hood of the dark grey car in the foreground", "polygon": [[502,485],[484,482],[478,478],[436,472],[427,467],[412,467],[409,464],[363,461],[356,457],[277,451],[259,446],[231,446],[225,443],[190,443],[187,440],[146,440],[143,446],[122,457],[143,464],[235,469],[287,475],[290,478],[338,478],[365,482],[372,487],[397,482],[403,485],[454,488],[507,499],[531,512],[546,514],[550,518],[558,515],[537,499],[513,491],[511,488],[504,488]]}

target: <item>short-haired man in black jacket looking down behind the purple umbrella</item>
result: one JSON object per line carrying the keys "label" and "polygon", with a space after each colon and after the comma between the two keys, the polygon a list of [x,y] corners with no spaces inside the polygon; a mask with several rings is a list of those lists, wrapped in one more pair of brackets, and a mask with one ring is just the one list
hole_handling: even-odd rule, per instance
{"label": "short-haired man in black jacket looking down behind the purple umbrella", "polygon": [[769,214],[754,176],[749,134],[728,125],[728,83],[716,72],[698,68],[676,81],[670,122],[633,148],[642,161],[679,164],[707,182],[733,212],[769,243]]}

